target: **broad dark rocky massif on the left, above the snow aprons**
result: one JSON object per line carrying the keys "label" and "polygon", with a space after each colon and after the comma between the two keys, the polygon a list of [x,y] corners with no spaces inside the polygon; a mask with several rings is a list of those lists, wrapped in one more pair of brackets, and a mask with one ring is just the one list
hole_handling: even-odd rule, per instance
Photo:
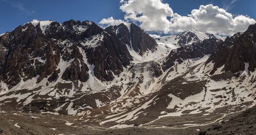
{"label": "broad dark rocky massif on the left, above the snow aprons", "polygon": [[64,80],[87,81],[90,64],[98,79],[111,81],[132,60],[117,36],[89,21],[26,23],[0,36],[0,49],[0,79],[9,88],[36,76],[55,81],[64,62]]}

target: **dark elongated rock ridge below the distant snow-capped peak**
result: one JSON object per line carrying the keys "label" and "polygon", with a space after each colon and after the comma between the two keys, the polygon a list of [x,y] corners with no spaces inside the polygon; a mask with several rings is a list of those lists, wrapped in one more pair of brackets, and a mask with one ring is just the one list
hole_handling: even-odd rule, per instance
{"label": "dark elongated rock ridge below the distant snow-capped peak", "polygon": [[221,43],[221,40],[207,39],[193,43],[192,45],[181,46],[178,49],[173,49],[165,58],[162,65],[164,71],[174,66],[174,62],[179,64],[188,58],[202,58],[207,54],[211,54],[215,48]]}

